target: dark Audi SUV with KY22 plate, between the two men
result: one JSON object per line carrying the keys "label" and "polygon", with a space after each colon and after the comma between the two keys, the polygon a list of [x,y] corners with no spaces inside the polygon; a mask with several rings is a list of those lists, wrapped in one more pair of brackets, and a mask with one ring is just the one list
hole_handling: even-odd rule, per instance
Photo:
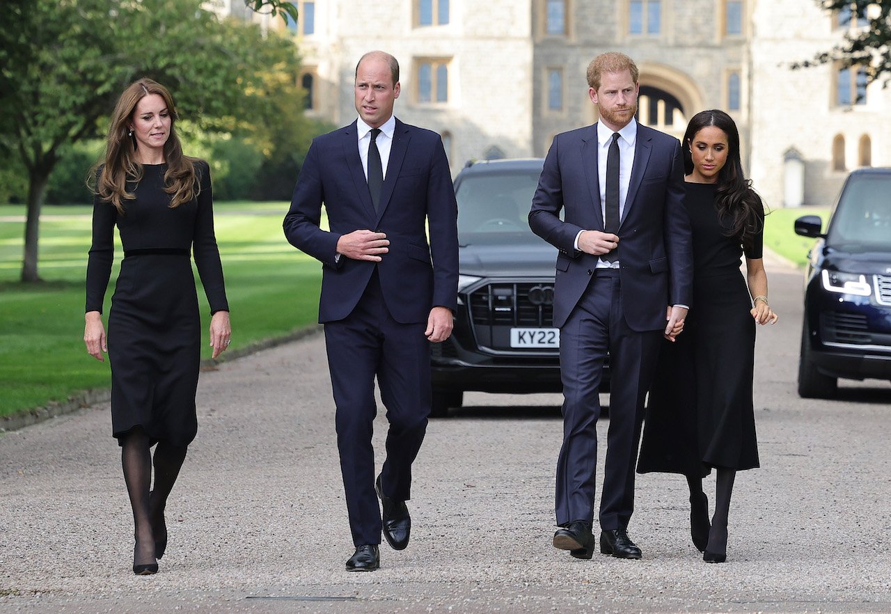
{"label": "dark Audi SUV with KY22 plate, between the two men", "polygon": [[458,310],[451,338],[432,344],[433,416],[460,407],[464,390],[562,390],[552,324],[557,249],[527,223],[543,164],[468,163],[455,178]]}

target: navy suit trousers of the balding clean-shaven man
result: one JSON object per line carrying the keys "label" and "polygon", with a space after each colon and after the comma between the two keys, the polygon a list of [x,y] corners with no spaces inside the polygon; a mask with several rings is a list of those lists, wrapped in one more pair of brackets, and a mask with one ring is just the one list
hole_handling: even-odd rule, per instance
{"label": "navy suit trousers of the balding clean-shaven man", "polygon": [[353,543],[380,544],[380,507],[374,492],[372,425],[377,414],[374,378],[387,408],[387,459],[381,469],[384,495],[411,498],[412,463],[430,413],[430,350],[427,323],[398,323],[380,290],[377,269],[343,320],[325,323],[325,347],[337,406],[340,471]]}

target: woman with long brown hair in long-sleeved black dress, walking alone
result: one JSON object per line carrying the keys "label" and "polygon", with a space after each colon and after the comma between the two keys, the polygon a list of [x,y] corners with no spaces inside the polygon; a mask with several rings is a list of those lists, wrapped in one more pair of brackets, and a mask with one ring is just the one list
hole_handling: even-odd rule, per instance
{"label": "woman with long brown hair in long-sleeved black dress, walking alone", "polygon": [[[214,358],[229,345],[232,332],[208,164],[183,154],[175,120],[170,93],[151,79],[139,79],[121,94],[105,159],[96,171],[86,268],[84,342],[97,360],[103,360],[102,352],[109,354],[111,427],[133,507],[137,575],[158,571],[168,540],[164,509],[198,430],[201,334],[191,250],[210,304]],[[124,259],[106,339],[102,305],[115,225]]]}

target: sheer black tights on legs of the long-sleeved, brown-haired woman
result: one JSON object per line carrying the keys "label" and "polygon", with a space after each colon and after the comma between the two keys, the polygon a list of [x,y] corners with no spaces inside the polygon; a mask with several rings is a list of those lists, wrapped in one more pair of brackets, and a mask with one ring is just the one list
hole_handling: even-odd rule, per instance
{"label": "sheer black tights on legs of the long-sleeved, brown-haired woman", "polygon": [[155,562],[167,546],[164,508],[185,460],[186,447],[161,442],[155,448],[155,484],[151,490],[151,441],[140,427],[121,441],[121,464],[135,525],[134,564]]}

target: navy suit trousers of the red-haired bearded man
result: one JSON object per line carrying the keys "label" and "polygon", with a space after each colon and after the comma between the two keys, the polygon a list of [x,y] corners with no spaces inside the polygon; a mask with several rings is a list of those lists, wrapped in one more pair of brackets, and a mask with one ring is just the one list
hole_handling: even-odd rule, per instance
{"label": "navy suit trousers of the red-haired bearded man", "polygon": [[604,530],[627,528],[634,512],[634,462],[643,404],[658,356],[661,331],[636,332],[622,314],[617,269],[595,269],[560,328],[563,446],[557,463],[557,524],[593,520],[601,369],[609,352],[607,456],[601,495]]}

